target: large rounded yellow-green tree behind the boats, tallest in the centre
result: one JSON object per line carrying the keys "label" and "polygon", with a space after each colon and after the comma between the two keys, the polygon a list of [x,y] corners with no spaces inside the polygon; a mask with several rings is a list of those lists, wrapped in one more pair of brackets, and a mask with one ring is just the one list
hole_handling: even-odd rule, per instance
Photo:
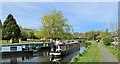
{"label": "large rounded yellow-green tree behind the boats, tallest in the centre", "polygon": [[65,39],[73,30],[68,24],[67,19],[62,13],[53,10],[51,13],[42,17],[42,26],[40,28],[43,38],[61,38]]}

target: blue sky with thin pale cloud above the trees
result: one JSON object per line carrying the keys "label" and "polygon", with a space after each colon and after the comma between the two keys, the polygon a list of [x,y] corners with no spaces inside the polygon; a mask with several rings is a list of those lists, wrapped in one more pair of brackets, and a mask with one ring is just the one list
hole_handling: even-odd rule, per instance
{"label": "blue sky with thin pale cloud above the trees", "polygon": [[110,29],[109,24],[118,19],[117,5],[117,2],[4,2],[0,17],[4,21],[11,13],[22,27],[39,30],[42,16],[56,8],[75,32],[86,32]]}

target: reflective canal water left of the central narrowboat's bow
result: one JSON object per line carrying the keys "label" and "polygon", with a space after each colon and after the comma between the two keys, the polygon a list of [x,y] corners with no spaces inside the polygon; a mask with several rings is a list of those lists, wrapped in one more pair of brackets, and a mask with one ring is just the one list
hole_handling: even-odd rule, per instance
{"label": "reflective canal water left of the central narrowboat's bow", "polygon": [[3,62],[46,62],[49,60],[49,51],[41,51],[32,55],[21,55],[21,56],[4,56],[2,57]]}

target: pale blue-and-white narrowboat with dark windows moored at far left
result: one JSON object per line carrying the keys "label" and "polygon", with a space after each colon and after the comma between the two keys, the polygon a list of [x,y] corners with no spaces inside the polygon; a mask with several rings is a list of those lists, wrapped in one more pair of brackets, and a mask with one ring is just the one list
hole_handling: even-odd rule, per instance
{"label": "pale blue-and-white narrowboat with dark windows moored at far left", "polygon": [[32,54],[33,50],[24,50],[21,44],[10,44],[10,45],[2,45],[0,53],[2,55],[18,55],[18,54]]}

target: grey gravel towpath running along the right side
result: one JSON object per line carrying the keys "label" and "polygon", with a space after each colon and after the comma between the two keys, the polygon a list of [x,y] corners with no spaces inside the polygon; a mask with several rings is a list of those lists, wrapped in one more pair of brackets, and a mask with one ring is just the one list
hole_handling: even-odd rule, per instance
{"label": "grey gravel towpath running along the right side", "polygon": [[101,50],[102,62],[118,62],[116,57],[110,51],[108,51],[104,46],[98,44],[98,47]]}

